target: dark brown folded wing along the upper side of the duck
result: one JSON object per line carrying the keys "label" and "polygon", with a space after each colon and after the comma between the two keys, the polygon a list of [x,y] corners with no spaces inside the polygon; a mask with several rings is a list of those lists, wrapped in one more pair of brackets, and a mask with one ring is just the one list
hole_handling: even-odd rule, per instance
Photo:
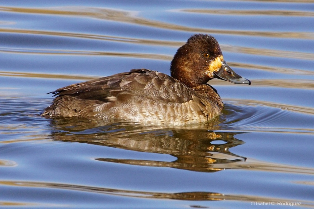
{"label": "dark brown folded wing along the upper side of the duck", "polygon": [[165,102],[187,102],[193,92],[169,75],[148,69],[133,69],[95,80],[59,88],[49,92],[54,96],[74,96],[76,99],[110,102],[120,93],[152,97]]}

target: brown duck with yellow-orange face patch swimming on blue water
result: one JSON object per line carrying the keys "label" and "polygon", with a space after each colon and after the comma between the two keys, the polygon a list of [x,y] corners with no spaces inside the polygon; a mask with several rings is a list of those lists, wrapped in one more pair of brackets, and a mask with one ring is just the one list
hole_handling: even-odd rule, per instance
{"label": "brown duck with yellow-orange face patch swimming on blue water", "polygon": [[41,116],[166,126],[208,123],[224,108],[209,80],[251,84],[228,66],[218,41],[207,34],[191,36],[177,50],[170,73],[132,69],[62,87],[49,92],[56,97]]}

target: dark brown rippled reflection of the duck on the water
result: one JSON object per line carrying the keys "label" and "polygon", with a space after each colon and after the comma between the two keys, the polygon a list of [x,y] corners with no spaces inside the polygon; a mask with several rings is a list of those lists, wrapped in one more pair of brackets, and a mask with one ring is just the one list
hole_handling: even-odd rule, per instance
{"label": "dark brown rippled reflection of the duck on the water", "polygon": [[[98,124],[93,124],[98,123]],[[71,125],[80,124],[80,125]],[[211,128],[215,124],[210,124]],[[158,128],[129,123],[113,123],[100,126],[96,121],[73,119],[52,122],[54,140],[84,142],[125,150],[168,154],[176,157],[173,162],[97,158],[104,162],[130,165],[170,167],[199,172],[215,172],[230,168],[230,163],[245,161],[245,157],[229,151],[244,144],[235,138],[239,133],[209,131],[208,127]]]}

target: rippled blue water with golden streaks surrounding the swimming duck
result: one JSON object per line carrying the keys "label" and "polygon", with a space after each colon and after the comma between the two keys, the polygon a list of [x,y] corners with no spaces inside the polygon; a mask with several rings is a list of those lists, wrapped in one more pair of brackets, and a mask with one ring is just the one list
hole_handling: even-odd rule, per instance
{"label": "rippled blue water with golden streaks surrounding the swimming duck", "polygon": [[[314,208],[313,22],[311,0],[0,1],[0,206]],[[195,33],[252,81],[210,81],[225,103],[216,121],[39,116],[59,87],[169,74]]]}

